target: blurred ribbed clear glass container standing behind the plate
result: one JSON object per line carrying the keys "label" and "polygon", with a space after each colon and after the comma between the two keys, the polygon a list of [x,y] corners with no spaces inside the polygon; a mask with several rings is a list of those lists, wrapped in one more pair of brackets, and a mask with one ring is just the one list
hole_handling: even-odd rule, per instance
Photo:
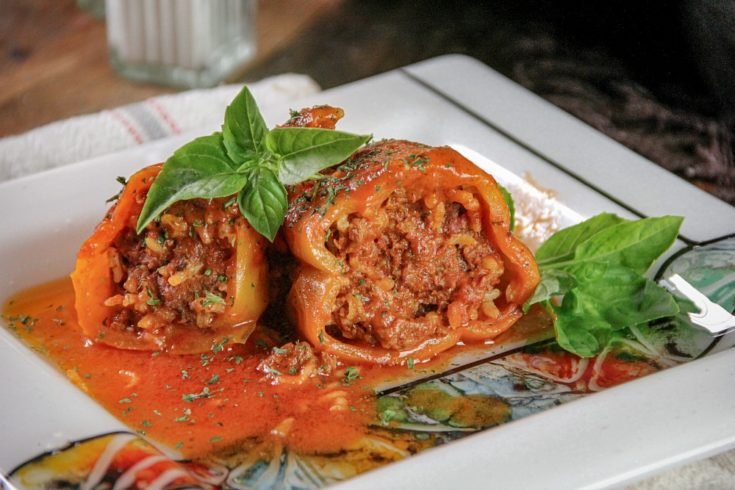
{"label": "blurred ribbed clear glass container standing behind the plate", "polygon": [[124,77],[211,87],[255,54],[256,0],[106,0],[112,66]]}

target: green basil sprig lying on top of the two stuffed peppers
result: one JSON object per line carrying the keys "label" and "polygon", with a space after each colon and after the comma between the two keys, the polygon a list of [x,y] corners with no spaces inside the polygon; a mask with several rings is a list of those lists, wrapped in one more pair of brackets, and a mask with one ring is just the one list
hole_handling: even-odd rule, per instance
{"label": "green basil sprig lying on top of the two stuffed peppers", "polygon": [[138,218],[138,233],[175,202],[237,194],[240,212],[273,241],[288,209],[285,185],[336,165],[370,140],[319,128],[268,130],[243,87],[225,111],[222,131],[182,146],[163,164]]}

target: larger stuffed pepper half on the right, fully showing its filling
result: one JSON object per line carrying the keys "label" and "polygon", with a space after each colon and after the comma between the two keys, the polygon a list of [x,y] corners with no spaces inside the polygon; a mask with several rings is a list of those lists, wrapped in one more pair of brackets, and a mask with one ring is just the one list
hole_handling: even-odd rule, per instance
{"label": "larger stuffed pepper half on the right, fully showing its filling", "polygon": [[291,311],[345,360],[395,365],[492,339],[539,281],[495,180],[448,147],[374,143],[289,199]]}

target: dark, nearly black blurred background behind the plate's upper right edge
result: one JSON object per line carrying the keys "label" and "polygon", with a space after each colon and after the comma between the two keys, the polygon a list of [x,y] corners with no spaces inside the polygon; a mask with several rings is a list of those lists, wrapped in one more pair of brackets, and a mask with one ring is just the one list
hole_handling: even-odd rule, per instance
{"label": "dark, nearly black blurred background behind the plate's upper right edge", "polygon": [[467,54],[735,203],[734,4],[348,0],[246,77],[302,72],[329,88]]}

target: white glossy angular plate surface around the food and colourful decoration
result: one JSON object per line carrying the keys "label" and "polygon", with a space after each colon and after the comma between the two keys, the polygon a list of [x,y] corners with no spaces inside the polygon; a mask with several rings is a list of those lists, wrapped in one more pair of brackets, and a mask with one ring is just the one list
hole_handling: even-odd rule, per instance
{"label": "white glossy angular plate surface around the food and colourful decoration", "polygon": [[[735,232],[735,208],[597,133],[470,58],[447,56],[320,93],[340,128],[376,139],[469,148],[529,174],[583,217],[686,217],[680,245]],[[292,104],[293,105],[293,104]],[[288,114],[269,107],[269,125]],[[0,184],[0,299],[68,274],[117,192],[117,175],[165,159],[168,138]],[[0,473],[122,424],[0,331]],[[429,450],[349,480],[351,488],[602,488],[735,446],[735,350]]]}

